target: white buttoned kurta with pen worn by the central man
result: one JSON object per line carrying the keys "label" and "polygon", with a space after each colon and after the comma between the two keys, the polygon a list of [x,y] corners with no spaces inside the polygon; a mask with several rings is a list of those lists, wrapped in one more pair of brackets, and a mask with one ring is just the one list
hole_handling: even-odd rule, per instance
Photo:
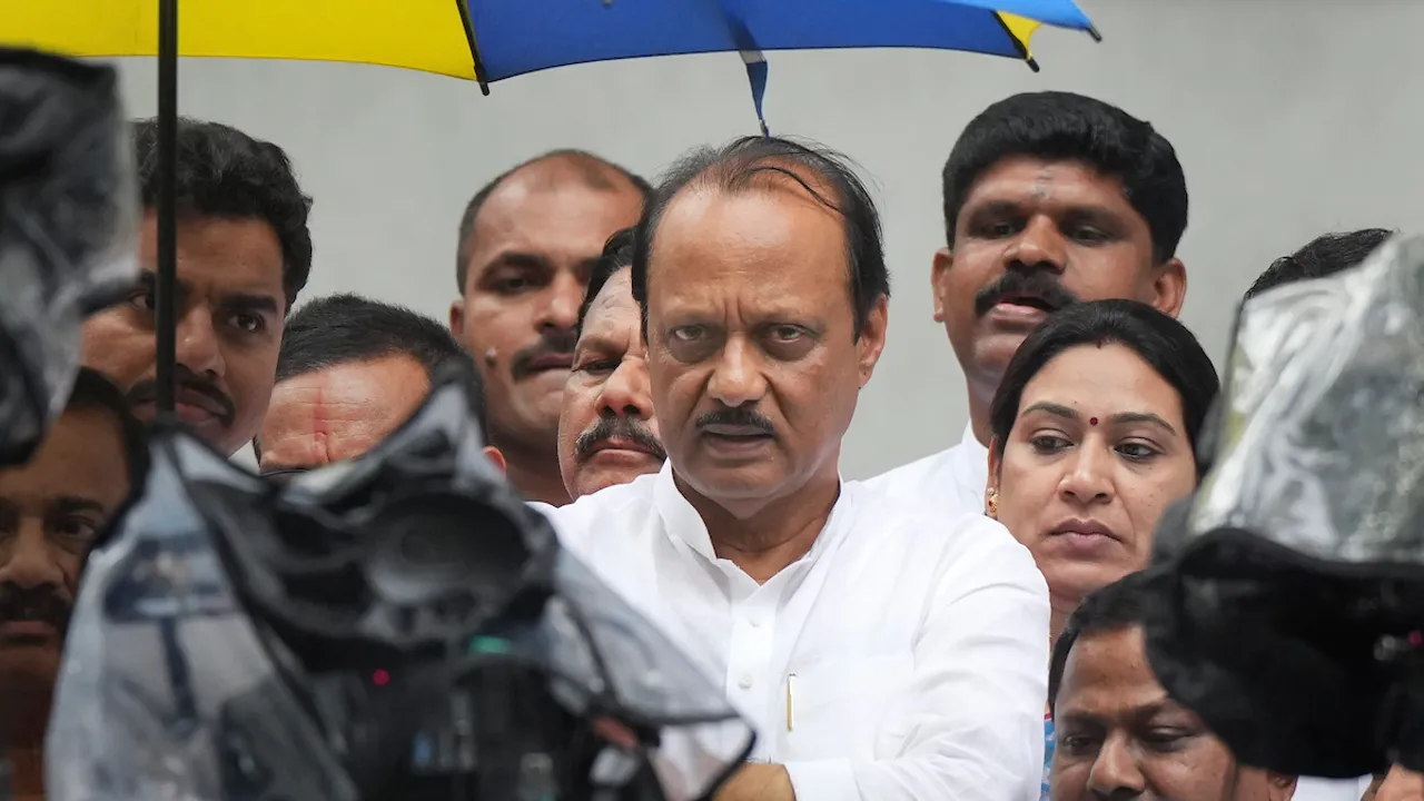
{"label": "white buttoned kurta with pen worn by the central man", "polygon": [[758,584],[715,556],[671,466],[533,506],[706,666],[797,798],[1038,798],[1048,589],[994,520],[846,482],[810,553]]}

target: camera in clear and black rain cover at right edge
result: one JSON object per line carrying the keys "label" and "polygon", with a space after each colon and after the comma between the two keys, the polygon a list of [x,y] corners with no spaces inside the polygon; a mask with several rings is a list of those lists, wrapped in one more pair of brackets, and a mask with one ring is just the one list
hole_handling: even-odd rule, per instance
{"label": "camera in clear and black rain cover at right edge", "polygon": [[1424,239],[1247,301],[1226,372],[1210,472],[1156,532],[1152,666],[1247,764],[1381,768],[1377,648],[1424,614]]}

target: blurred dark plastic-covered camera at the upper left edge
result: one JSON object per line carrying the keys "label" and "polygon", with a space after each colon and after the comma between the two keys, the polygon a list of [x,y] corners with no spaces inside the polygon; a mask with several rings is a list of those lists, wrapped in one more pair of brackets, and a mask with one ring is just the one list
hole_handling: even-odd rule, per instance
{"label": "blurred dark plastic-covered camera at the upper left edge", "polygon": [[0,47],[0,463],[28,459],[80,324],[137,278],[138,214],[114,70]]}

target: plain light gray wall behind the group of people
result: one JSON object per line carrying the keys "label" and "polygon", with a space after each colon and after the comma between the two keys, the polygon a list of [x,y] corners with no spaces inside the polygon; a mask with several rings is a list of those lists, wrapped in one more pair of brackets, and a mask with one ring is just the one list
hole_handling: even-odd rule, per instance
{"label": "plain light gray wall behind the group of people", "polygon": [[[1235,305],[1279,255],[1329,229],[1417,229],[1424,100],[1417,0],[1079,0],[1104,34],[1044,29],[1042,73],[946,51],[770,53],[773,133],[856,158],[893,269],[890,342],[863,392],[843,470],[863,477],[958,440],[964,383],[930,319],[943,245],[938,174],[987,104],[1072,90],[1149,120],[1190,190],[1185,319],[1218,358]],[[157,110],[157,68],[121,64],[130,111]],[[372,295],[446,318],[456,225],[484,181],[581,147],[656,174],[688,147],[756,133],[735,54],[590,64],[473,83],[380,67],[187,60],[184,114],[281,144],[316,198],[306,296]]]}

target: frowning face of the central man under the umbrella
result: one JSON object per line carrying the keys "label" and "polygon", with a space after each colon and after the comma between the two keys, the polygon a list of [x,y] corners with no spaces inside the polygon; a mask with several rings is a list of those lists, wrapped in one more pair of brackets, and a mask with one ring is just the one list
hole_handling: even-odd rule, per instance
{"label": "frowning face of the central man under the umbrella", "polygon": [[648,315],[654,408],[685,487],[743,516],[834,477],[886,328],[881,299],[856,336],[837,212],[789,180],[686,190],[654,237]]}

